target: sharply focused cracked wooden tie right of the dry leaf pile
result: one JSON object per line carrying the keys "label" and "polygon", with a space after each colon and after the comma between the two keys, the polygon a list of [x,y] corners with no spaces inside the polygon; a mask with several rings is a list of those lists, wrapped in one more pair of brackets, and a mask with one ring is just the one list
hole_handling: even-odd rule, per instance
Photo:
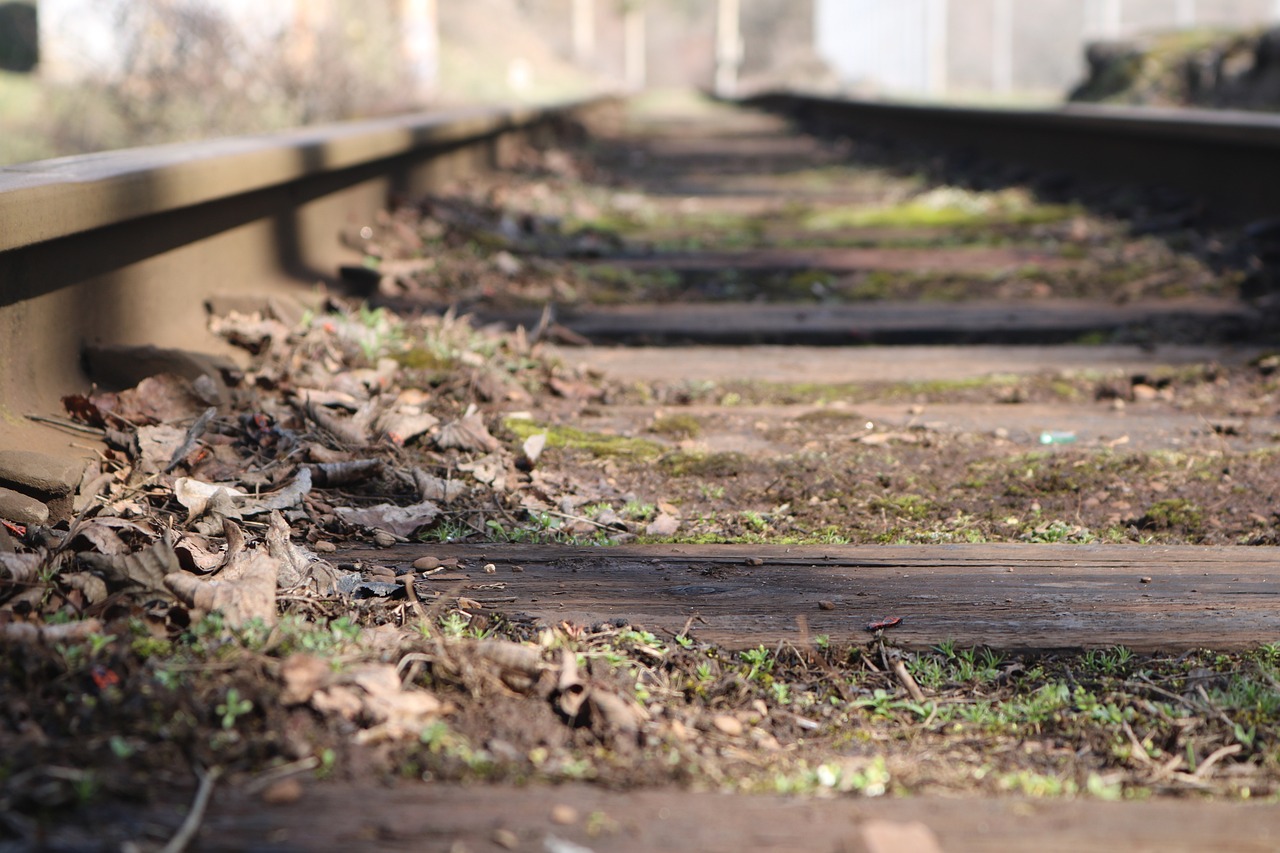
{"label": "sharply focused cracked wooden tie right of the dry leaf pile", "polygon": [[[558,624],[627,620],[731,647],[828,635],[1009,651],[1220,651],[1280,640],[1274,548],[1132,546],[429,546],[348,552],[489,611]],[[495,571],[485,573],[493,564]],[[500,587],[495,587],[500,585]]]}

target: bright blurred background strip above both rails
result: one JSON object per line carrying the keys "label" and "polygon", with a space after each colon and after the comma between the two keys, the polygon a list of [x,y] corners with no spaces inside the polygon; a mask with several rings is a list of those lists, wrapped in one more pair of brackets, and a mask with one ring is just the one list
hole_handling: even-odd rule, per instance
{"label": "bright blurred background strip above both rails", "polygon": [[1280,0],[0,0],[0,163],[598,91],[1280,106]]}

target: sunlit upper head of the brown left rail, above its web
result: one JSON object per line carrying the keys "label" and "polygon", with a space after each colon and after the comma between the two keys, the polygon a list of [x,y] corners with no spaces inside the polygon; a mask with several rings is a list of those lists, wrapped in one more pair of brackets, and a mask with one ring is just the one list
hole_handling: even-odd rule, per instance
{"label": "sunlit upper head of the brown left rail, above its web", "polygon": [[0,252],[495,136],[602,104],[466,109],[0,168]]}

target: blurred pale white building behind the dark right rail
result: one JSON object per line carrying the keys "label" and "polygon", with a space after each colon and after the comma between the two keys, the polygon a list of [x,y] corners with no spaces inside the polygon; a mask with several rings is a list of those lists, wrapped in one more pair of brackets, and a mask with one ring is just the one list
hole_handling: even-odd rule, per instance
{"label": "blurred pale white building behind the dark right rail", "polygon": [[1061,93],[1102,38],[1280,20],[1277,0],[814,0],[814,42],[842,82],[916,97]]}

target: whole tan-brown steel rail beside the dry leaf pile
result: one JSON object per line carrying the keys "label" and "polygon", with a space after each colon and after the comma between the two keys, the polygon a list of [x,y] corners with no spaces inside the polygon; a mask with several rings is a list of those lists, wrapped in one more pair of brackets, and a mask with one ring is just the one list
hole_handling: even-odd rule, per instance
{"label": "whole tan-brown steel rail beside the dry leaf pile", "polygon": [[84,386],[88,345],[220,352],[215,297],[305,295],[396,196],[500,168],[602,97],[160,145],[0,168],[0,446]]}

